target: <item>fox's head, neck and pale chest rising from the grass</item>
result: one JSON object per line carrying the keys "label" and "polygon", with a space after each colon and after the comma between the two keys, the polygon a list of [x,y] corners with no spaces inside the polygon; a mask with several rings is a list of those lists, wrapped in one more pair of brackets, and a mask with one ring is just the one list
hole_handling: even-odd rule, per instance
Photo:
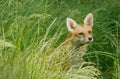
{"label": "fox's head, neck and pale chest rising from the grass", "polygon": [[83,24],[77,24],[73,19],[67,18],[66,21],[69,39],[72,41],[73,51],[71,52],[71,65],[78,65],[83,62],[82,56],[87,50],[89,43],[93,41],[92,26],[93,26],[93,14],[89,13]]}

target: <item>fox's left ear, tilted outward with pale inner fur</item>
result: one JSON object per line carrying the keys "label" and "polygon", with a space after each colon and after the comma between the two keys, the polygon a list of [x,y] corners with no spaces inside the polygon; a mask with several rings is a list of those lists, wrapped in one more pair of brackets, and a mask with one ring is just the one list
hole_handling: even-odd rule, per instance
{"label": "fox's left ear, tilted outward with pale inner fur", "polygon": [[77,23],[71,19],[71,18],[67,18],[67,21],[66,21],[66,24],[67,24],[67,28],[68,28],[68,31],[70,32],[73,32],[75,30],[75,28],[77,27]]}

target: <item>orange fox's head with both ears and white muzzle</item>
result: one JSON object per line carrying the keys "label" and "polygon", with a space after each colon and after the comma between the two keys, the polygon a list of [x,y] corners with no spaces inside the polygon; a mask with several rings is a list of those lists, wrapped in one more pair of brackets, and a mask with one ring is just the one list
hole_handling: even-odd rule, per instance
{"label": "orange fox's head with both ears and white muzzle", "polygon": [[67,18],[68,31],[73,35],[73,40],[80,43],[90,43],[93,41],[92,26],[93,14],[89,13],[83,24],[77,24],[73,19]]}

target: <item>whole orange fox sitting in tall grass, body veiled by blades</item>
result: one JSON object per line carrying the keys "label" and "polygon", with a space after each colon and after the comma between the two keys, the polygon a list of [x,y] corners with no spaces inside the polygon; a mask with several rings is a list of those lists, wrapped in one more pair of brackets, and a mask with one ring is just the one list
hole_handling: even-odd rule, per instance
{"label": "whole orange fox sitting in tall grass, body veiled by blades", "polygon": [[[51,60],[54,59],[53,61],[56,61],[56,63],[63,62],[63,70],[68,70],[72,66],[80,67],[81,63],[84,62],[83,56],[87,51],[87,47],[93,42],[93,14],[88,13],[83,24],[78,24],[72,18],[67,18],[66,26],[69,32],[67,37],[57,47],[53,56],[50,56],[52,57]],[[59,56],[55,56],[56,52],[59,53],[57,54]]]}

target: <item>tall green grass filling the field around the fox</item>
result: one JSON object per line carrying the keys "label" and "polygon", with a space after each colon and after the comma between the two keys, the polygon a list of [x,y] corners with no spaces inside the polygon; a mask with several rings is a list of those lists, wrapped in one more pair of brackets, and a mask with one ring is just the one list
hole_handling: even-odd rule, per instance
{"label": "tall green grass filling the field around the fox", "polygon": [[[94,42],[82,65],[94,65],[61,71],[66,18],[83,23],[90,12]],[[0,0],[0,79],[120,79],[120,1]]]}

